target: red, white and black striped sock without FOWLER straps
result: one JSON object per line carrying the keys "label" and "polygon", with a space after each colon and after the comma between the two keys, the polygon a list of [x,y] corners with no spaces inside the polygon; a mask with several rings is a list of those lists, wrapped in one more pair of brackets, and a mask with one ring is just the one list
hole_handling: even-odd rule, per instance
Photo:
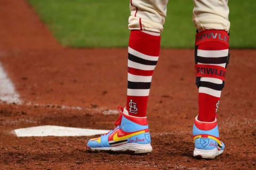
{"label": "red, white and black striped sock without FOWLER straps", "polygon": [[160,40],[160,33],[131,31],[126,104],[129,115],[146,116],[151,79],[159,57]]}

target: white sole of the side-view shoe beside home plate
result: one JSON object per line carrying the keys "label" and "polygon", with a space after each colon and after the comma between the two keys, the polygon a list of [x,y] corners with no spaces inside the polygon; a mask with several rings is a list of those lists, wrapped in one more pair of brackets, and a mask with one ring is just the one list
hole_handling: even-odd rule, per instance
{"label": "white sole of the side-view shoe beside home plate", "polygon": [[86,146],[86,148],[91,151],[132,152],[134,154],[149,153],[152,151],[152,147],[150,143],[143,144],[143,145],[138,143],[127,143],[121,146],[107,147],[107,148],[90,148]]}

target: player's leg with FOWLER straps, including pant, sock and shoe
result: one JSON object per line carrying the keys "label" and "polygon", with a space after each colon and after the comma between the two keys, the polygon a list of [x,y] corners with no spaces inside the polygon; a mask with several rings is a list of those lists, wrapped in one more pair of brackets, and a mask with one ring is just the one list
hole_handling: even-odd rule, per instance
{"label": "player's leg with FOWLER straps, including pant, sock and shoe", "polygon": [[227,1],[194,0],[193,21],[197,27],[195,69],[198,116],[193,135],[194,156],[215,158],[225,148],[219,139],[216,113],[229,61],[229,8]]}

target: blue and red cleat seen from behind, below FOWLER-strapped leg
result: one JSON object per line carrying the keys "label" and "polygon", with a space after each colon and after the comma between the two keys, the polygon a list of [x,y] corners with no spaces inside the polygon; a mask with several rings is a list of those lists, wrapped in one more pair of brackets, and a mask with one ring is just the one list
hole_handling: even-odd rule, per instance
{"label": "blue and red cleat seen from behind, below FOWLER-strapped leg", "polygon": [[219,138],[217,120],[213,122],[198,121],[197,116],[193,126],[195,143],[194,157],[214,159],[222,154],[225,145]]}

